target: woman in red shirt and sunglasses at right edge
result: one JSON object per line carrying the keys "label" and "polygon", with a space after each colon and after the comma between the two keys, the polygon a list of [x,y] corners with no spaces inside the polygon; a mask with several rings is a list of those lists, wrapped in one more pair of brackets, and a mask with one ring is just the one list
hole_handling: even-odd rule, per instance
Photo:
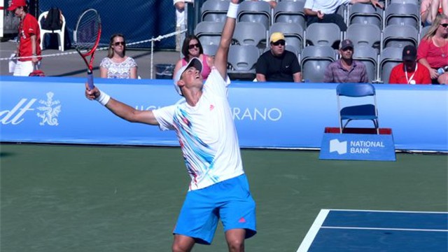
{"label": "woman in red shirt and sunglasses at right edge", "polygon": [[[448,66],[448,16],[437,15],[433,25],[421,38],[417,49],[417,60],[429,70],[433,84],[447,84],[448,71],[443,68]],[[440,69],[440,71],[437,71]]]}

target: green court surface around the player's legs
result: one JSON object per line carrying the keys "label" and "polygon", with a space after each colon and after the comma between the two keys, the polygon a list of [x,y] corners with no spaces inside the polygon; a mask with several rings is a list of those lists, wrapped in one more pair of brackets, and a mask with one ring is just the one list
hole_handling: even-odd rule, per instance
{"label": "green court surface around the player's legs", "polygon": [[[179,148],[1,144],[0,153],[1,252],[171,250],[189,181]],[[246,251],[297,251],[320,209],[448,210],[447,155],[242,157],[258,220]],[[221,226],[193,251],[228,251]]]}

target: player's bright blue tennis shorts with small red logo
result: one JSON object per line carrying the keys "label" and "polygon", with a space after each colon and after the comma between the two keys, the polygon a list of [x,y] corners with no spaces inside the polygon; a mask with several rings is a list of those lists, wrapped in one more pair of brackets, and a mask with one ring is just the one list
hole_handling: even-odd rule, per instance
{"label": "player's bright blue tennis shorts with small red logo", "polygon": [[207,188],[189,191],[174,228],[174,235],[186,235],[193,237],[199,244],[211,244],[219,218],[225,232],[244,228],[246,239],[257,232],[255,201],[245,174]]}

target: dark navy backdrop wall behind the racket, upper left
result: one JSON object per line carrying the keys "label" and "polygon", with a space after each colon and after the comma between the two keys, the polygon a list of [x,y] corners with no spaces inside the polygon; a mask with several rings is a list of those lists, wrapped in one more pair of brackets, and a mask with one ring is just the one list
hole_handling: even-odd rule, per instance
{"label": "dark navy backdrop wall behind the racket, upper left", "polygon": [[[169,34],[176,29],[176,13],[171,0],[39,1],[40,13],[49,10],[53,6],[62,10],[71,41],[73,41],[73,30],[76,27],[76,21],[83,10],[87,8],[98,10],[102,20],[101,47],[109,45],[109,38],[114,33],[124,34],[126,41],[130,43]],[[133,47],[151,48],[151,43],[141,43],[133,45]],[[175,47],[176,41],[174,36],[155,43],[155,48],[157,49],[172,49]]]}

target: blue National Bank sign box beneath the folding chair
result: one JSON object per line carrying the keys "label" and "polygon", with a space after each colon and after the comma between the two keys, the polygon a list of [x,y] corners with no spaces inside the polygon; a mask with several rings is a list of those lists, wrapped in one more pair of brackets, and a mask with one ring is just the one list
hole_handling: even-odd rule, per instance
{"label": "blue National Bank sign box beneath the folding chair", "polygon": [[395,146],[392,134],[324,133],[319,158],[395,161]]}

